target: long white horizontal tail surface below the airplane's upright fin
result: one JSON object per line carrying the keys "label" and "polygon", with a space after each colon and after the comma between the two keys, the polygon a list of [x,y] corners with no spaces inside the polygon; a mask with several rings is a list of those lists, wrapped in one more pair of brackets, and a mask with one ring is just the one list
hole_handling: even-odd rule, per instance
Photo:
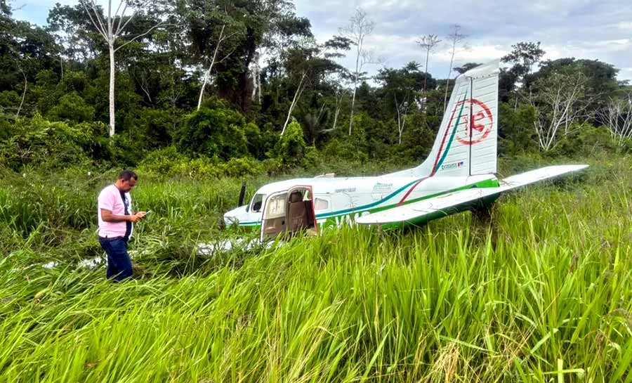
{"label": "long white horizontal tail surface below the airplane's upright fin", "polygon": [[358,217],[355,221],[363,225],[383,225],[388,223],[402,223],[428,221],[430,219],[447,216],[459,212],[476,202],[494,199],[501,193],[508,192],[521,186],[529,185],[548,178],[554,178],[572,171],[585,169],[588,165],[560,165],[543,167],[526,173],[517,174],[500,181],[498,188],[471,188],[458,190],[437,197],[421,200],[409,205],[394,207],[373,214]]}

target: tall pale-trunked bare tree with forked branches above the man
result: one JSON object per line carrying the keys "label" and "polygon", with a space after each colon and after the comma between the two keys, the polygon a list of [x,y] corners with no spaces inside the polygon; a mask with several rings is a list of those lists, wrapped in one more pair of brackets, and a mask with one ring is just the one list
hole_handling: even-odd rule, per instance
{"label": "tall pale-trunked bare tree with forked branches above the man", "polygon": [[110,53],[110,137],[114,136],[114,74],[116,69],[116,61],[114,60],[114,53],[118,51],[120,48],[130,44],[140,37],[143,37],[156,27],[162,24],[162,22],[157,23],[153,27],[150,27],[142,34],[138,34],[131,39],[126,39],[123,44],[117,46],[117,39],[121,37],[121,34],[125,31],[125,27],[133,20],[134,15],[136,13],[132,13],[129,16],[125,16],[125,12],[129,6],[143,8],[147,5],[148,1],[131,2],[129,0],[121,0],[119,5],[117,6],[116,11],[112,14],[112,0],[107,0],[107,15],[103,15],[103,11],[100,6],[97,6],[95,0],[79,0],[81,6],[84,7],[86,13],[88,13],[88,17],[92,22],[92,25],[96,28],[97,32],[99,32],[100,36],[103,37],[105,43],[107,44],[107,49]]}

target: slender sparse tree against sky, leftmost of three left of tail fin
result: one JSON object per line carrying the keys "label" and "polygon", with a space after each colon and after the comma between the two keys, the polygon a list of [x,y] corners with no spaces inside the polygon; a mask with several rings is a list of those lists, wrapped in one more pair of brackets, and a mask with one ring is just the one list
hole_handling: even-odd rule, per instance
{"label": "slender sparse tree against sky, leftmost of three left of tail fin", "polygon": [[350,18],[350,23],[341,28],[341,34],[350,39],[355,45],[355,71],[353,74],[353,93],[351,96],[351,115],[349,117],[349,136],[353,128],[353,110],[355,108],[355,93],[357,91],[357,82],[362,74],[362,67],[373,62],[371,52],[364,48],[364,39],[373,32],[375,22],[369,19],[367,12],[362,8],[356,8],[355,14]]}

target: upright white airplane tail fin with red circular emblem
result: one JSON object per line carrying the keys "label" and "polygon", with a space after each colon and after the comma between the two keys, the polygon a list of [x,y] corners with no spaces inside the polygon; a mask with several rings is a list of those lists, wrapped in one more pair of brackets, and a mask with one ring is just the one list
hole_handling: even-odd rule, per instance
{"label": "upright white airplane tail fin with red circular emblem", "polygon": [[389,176],[496,173],[499,60],[456,78],[430,155],[419,167]]}

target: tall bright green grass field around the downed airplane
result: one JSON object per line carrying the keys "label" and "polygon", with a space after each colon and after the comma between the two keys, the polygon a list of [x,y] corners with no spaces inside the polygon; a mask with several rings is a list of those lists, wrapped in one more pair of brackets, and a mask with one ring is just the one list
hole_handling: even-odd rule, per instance
{"label": "tall bright green grass field around the downed airplane", "polygon": [[121,284],[78,266],[102,255],[114,173],[6,173],[0,382],[632,382],[630,160],[505,196],[491,227],[464,213],[214,257],[195,245],[236,235],[218,223],[241,181],[141,175],[155,214]]}

